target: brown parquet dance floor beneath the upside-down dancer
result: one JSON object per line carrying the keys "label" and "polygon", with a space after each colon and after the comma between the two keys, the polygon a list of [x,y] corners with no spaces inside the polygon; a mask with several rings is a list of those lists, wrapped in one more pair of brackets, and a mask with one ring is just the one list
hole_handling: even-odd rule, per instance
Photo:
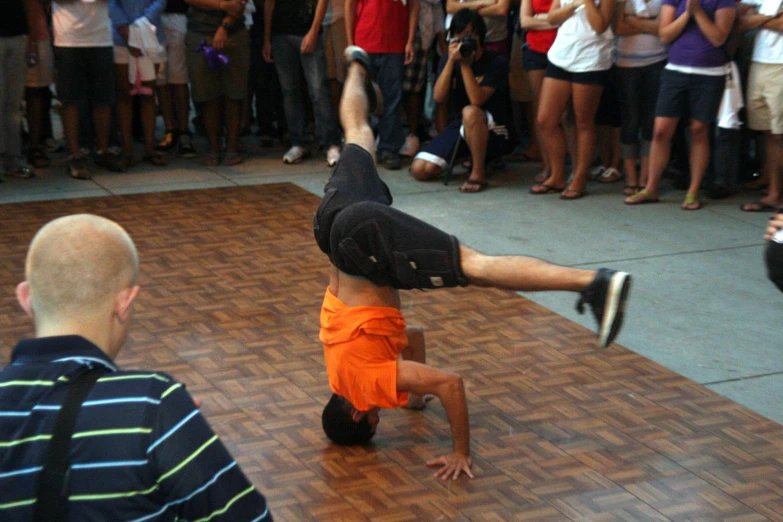
{"label": "brown parquet dance floor beneath the upside-down dancer", "polygon": [[332,447],[317,203],[281,184],[2,205],[0,360],[32,333],[13,288],[33,233],[91,212],[141,255],[120,364],[184,381],[278,520],[783,521],[782,426],[511,292],[404,296],[429,362],[466,379],[475,480],[424,466],[450,447],[437,402]]}

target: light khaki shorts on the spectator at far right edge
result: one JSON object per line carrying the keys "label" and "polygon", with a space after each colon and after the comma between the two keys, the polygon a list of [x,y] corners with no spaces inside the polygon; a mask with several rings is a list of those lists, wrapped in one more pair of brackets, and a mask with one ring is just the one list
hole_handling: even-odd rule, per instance
{"label": "light khaki shorts on the spectator at far right edge", "polygon": [[783,64],[750,64],[748,74],[748,126],[783,134]]}

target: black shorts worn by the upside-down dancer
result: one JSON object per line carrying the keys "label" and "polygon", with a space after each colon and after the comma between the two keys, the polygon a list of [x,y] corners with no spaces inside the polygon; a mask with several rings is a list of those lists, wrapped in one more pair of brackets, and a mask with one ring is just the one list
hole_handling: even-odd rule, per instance
{"label": "black shorts worn by the upside-down dancer", "polygon": [[399,289],[465,286],[459,241],[390,205],[372,156],[349,144],[313,220],[315,239],[346,274]]}

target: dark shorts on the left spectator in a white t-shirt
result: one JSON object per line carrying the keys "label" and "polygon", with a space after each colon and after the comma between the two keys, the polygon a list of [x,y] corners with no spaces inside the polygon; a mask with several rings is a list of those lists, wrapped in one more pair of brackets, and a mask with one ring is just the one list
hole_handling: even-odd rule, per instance
{"label": "dark shorts on the left spectator in a white t-shirt", "polygon": [[55,47],[57,96],[64,105],[90,100],[114,104],[114,47]]}

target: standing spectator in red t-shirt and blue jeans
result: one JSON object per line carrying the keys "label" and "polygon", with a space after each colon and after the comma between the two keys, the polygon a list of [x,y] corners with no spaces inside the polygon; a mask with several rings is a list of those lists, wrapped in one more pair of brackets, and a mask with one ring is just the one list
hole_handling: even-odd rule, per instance
{"label": "standing spectator in red t-shirt and blue jeans", "polygon": [[414,38],[419,23],[419,0],[345,0],[345,34],[348,45],[370,54],[375,80],[383,96],[378,123],[378,163],[400,168],[403,145],[402,80],[404,66],[415,56]]}

